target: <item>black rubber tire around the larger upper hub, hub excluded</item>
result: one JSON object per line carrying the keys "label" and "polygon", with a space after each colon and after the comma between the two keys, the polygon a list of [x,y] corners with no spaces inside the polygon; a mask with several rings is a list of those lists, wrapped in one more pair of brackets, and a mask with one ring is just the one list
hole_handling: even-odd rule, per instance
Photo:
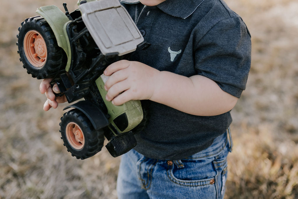
{"label": "black rubber tire around the larger upper hub, hub excluded", "polygon": [[[24,51],[24,37],[30,30],[39,32],[46,43],[47,58],[42,67],[33,66]],[[54,77],[58,70],[65,69],[67,63],[66,53],[58,46],[55,35],[44,18],[40,16],[27,18],[21,23],[18,31],[18,53],[20,54],[20,61],[23,62],[23,67],[27,69],[28,74],[31,74],[33,78],[44,79]]]}

